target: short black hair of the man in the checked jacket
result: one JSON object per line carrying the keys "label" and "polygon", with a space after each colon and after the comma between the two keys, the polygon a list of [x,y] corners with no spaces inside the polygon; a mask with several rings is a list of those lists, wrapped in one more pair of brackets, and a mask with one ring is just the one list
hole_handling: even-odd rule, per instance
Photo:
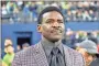
{"label": "short black hair of the man in the checked jacket", "polygon": [[[46,12],[51,12],[51,11],[57,11],[63,15],[63,13],[62,13],[62,11],[61,11],[61,9],[58,7],[53,7],[53,6],[46,7],[44,10],[41,11],[41,13],[40,13],[40,15],[37,18],[37,23],[42,24],[43,14],[46,13]],[[63,15],[63,18],[64,18],[64,15]]]}

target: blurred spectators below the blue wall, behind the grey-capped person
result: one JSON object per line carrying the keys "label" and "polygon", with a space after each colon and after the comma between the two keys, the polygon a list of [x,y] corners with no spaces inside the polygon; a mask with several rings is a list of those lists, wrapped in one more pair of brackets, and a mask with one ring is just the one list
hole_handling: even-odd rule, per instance
{"label": "blurred spectators below the blue wall, behind the grey-capped person", "polygon": [[[97,45],[99,45],[99,31],[72,31],[67,29],[64,35],[63,43],[72,48],[75,48],[76,43],[80,43],[85,40],[91,40]],[[98,47],[99,48],[99,47]]]}

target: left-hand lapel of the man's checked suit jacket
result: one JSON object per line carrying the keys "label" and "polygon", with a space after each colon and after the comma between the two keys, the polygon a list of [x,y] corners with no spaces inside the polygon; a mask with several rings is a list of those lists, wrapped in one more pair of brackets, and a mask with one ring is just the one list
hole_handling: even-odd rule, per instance
{"label": "left-hand lapel of the man's checked suit jacket", "polygon": [[35,45],[34,55],[35,55],[34,58],[37,63],[37,66],[48,66],[47,58],[41,43]]}

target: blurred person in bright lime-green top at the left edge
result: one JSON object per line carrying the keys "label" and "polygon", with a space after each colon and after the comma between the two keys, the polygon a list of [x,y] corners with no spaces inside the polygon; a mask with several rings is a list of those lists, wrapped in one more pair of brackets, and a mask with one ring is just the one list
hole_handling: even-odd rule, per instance
{"label": "blurred person in bright lime-green top at the left edge", "polygon": [[11,66],[11,63],[14,57],[14,48],[12,46],[12,41],[10,38],[7,38],[4,41],[4,52],[7,54],[4,55],[2,62],[4,63],[4,65],[7,64],[7,66]]}

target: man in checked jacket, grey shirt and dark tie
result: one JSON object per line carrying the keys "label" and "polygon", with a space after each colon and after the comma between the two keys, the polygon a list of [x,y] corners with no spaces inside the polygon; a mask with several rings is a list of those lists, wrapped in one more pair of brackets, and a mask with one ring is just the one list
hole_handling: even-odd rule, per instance
{"label": "man in checked jacket, grey shirt and dark tie", "polygon": [[85,66],[82,56],[61,42],[65,25],[58,8],[47,7],[40,13],[37,30],[41,42],[19,52],[12,66]]}

